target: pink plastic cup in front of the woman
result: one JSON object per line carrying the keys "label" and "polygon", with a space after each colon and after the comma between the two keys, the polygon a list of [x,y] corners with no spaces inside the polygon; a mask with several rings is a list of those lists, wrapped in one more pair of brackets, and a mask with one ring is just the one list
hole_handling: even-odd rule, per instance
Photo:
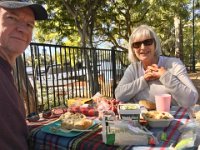
{"label": "pink plastic cup in front of the woman", "polygon": [[170,106],[171,106],[170,94],[155,95],[155,102],[157,111],[170,112]]}

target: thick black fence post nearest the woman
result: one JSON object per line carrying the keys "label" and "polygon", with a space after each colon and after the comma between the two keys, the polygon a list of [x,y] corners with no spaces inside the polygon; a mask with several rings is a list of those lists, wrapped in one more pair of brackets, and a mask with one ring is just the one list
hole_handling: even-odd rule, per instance
{"label": "thick black fence post nearest the woman", "polygon": [[113,82],[112,82],[112,96],[113,98],[115,97],[115,88],[116,88],[116,57],[115,57],[115,47],[112,47],[111,49],[111,63],[112,63],[112,77],[113,77]]}

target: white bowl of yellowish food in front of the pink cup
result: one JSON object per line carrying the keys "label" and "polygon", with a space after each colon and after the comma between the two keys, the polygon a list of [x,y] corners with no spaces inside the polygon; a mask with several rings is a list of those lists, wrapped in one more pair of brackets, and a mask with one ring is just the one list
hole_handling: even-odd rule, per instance
{"label": "white bowl of yellowish food in front of the pink cup", "polygon": [[142,114],[152,128],[164,128],[170,125],[174,117],[168,112],[149,111]]}

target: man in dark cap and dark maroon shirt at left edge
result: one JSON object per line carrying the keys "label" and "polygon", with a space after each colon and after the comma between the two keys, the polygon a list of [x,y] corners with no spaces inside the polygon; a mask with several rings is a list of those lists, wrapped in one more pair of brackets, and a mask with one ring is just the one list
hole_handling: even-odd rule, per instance
{"label": "man in dark cap and dark maroon shirt at left edge", "polygon": [[0,149],[28,149],[23,101],[17,92],[12,66],[30,44],[35,20],[46,10],[28,0],[0,0]]}

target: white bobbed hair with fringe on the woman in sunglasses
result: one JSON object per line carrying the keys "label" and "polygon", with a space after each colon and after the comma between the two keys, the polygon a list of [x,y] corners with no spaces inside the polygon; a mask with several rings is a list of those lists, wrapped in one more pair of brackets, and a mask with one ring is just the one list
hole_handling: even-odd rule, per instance
{"label": "white bobbed hair with fringe on the woman in sunglasses", "polygon": [[136,57],[135,52],[132,47],[132,43],[135,38],[138,37],[151,37],[154,39],[155,42],[155,57],[159,57],[162,54],[161,46],[160,46],[160,40],[154,30],[148,26],[148,25],[140,25],[137,27],[129,37],[129,45],[128,45],[128,59],[130,62],[136,62],[139,61],[139,59]]}

